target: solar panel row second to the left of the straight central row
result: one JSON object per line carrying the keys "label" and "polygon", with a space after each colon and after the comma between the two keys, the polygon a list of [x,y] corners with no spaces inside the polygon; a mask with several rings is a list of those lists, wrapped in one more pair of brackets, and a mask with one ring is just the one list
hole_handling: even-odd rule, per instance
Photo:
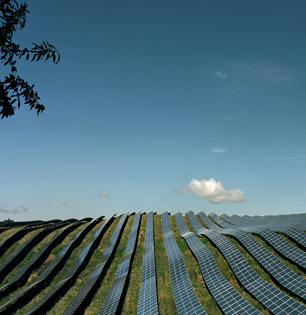
{"label": "solar panel row second to the left of the straight central row", "polygon": [[118,237],[123,229],[124,223],[126,222],[128,217],[128,213],[124,214],[119,223],[117,224],[104,252],[102,255],[101,260],[98,262],[97,266],[93,269],[90,276],[88,277],[86,283],[84,286],[77,292],[77,295],[73,298],[73,300],[69,303],[69,305],[66,307],[62,315],[73,315],[77,314],[78,308],[81,305],[81,303],[88,297],[88,294],[90,290],[93,288],[93,286],[96,284],[96,282],[99,280],[100,275],[102,274],[106,262],[110,259],[114,247],[117,243]]}

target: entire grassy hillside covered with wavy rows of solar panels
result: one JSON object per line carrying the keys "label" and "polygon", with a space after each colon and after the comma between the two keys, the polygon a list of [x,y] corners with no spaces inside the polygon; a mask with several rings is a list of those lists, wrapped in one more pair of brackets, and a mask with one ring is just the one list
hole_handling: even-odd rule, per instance
{"label": "entire grassy hillside covered with wavy rows of solar panels", "polygon": [[306,315],[306,214],[0,223],[0,315]]}

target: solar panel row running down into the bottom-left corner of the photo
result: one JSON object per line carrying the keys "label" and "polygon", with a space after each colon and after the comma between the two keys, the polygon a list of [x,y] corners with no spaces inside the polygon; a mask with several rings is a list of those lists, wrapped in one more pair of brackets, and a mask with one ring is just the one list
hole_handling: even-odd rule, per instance
{"label": "solar panel row running down into the bottom-left corner of the photo", "polygon": [[[81,220],[80,220],[81,221]],[[91,228],[91,223],[88,222],[76,235],[74,235],[71,240],[63,246],[60,252],[55,256],[51,264],[48,268],[37,278],[37,280],[30,286],[26,287],[26,289],[22,290],[15,296],[13,296],[9,301],[2,304],[0,306],[0,312],[6,308],[12,308],[12,304],[19,303],[22,304],[25,300],[26,296],[29,296],[30,291],[35,289],[38,286],[45,286],[47,281],[51,281],[51,279],[57,273],[58,268],[62,265],[63,260],[66,258],[66,254],[69,253],[69,250],[75,246],[76,241],[83,239],[85,235],[88,233],[88,230]]]}

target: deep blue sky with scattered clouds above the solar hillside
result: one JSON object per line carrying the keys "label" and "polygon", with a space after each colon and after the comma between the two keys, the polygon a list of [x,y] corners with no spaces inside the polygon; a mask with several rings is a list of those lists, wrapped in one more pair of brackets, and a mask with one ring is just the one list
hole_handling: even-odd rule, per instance
{"label": "deep blue sky with scattered clouds above the solar hillside", "polygon": [[17,63],[46,110],[0,121],[0,218],[306,212],[305,1],[26,3],[61,61]]}

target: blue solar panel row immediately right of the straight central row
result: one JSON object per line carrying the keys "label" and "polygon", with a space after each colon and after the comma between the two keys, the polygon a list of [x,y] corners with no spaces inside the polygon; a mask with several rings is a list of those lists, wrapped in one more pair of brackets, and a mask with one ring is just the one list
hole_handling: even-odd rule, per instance
{"label": "blue solar panel row immediately right of the straight central row", "polygon": [[161,214],[161,223],[178,315],[205,315],[206,312],[188,278],[183,256],[171,230],[168,212]]}

